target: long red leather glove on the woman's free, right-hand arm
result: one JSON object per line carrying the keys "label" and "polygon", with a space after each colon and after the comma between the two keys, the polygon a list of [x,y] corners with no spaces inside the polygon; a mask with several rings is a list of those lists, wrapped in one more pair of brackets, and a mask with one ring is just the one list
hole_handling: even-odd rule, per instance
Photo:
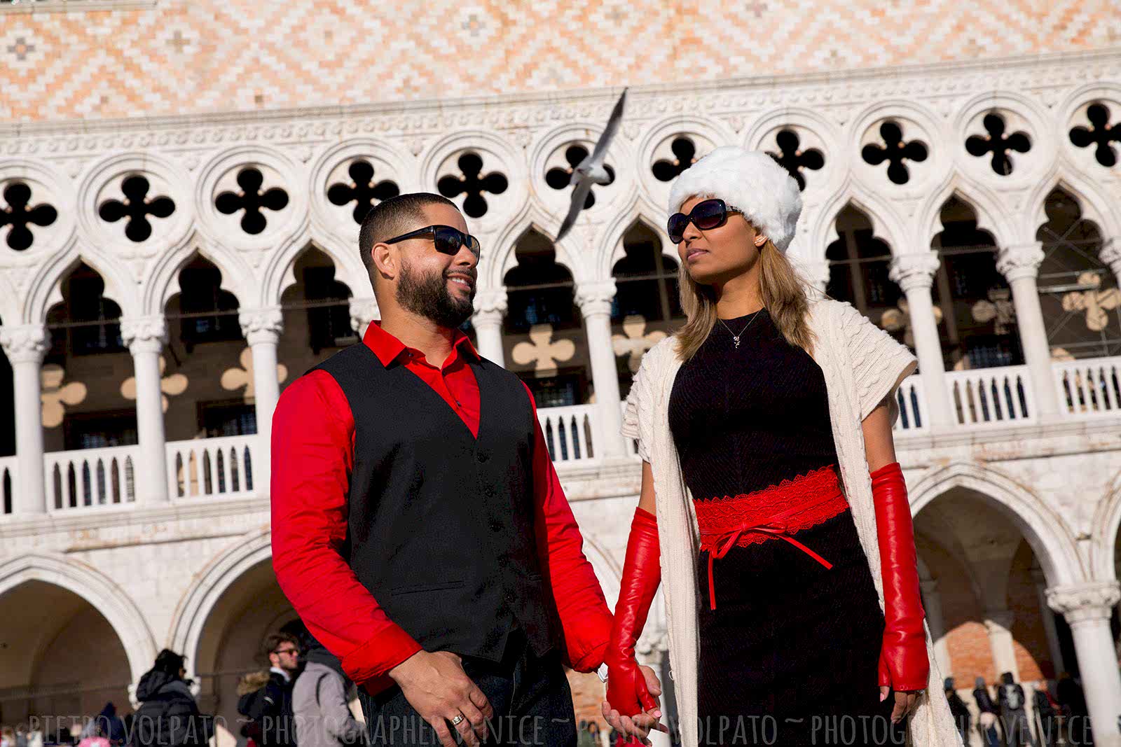
{"label": "long red leather glove on the woman's free, right-hand arm", "polygon": [[872,473],[872,502],[883,573],[883,645],[880,684],[896,691],[925,690],[930,673],[923,629],[915,527],[911,525],[907,484],[898,461]]}

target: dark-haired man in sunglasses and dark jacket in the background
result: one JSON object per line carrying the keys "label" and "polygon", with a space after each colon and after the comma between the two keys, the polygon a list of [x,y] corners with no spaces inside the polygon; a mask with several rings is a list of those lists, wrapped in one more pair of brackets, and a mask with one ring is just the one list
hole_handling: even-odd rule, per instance
{"label": "dark-haired man in sunglasses and dark jacket in the background", "polygon": [[238,711],[260,729],[259,747],[296,747],[291,690],[299,671],[299,642],[290,633],[270,633],[261,654],[269,662],[269,680],[257,692],[242,695]]}

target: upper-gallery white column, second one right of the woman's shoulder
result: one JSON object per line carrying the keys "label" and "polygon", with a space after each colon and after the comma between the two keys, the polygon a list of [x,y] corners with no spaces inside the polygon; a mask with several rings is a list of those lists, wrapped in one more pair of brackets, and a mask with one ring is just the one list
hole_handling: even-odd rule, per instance
{"label": "upper-gallery white column, second one right of the woman's shoulder", "polygon": [[1050,345],[1047,343],[1047,327],[1039,306],[1039,288],[1036,278],[1044,261],[1040,242],[1028,246],[1007,249],[997,258],[997,271],[1012,287],[1012,304],[1016,306],[1016,323],[1020,332],[1020,346],[1028,364],[1031,389],[1035,392],[1039,420],[1058,417],[1058,394],[1051,373]]}

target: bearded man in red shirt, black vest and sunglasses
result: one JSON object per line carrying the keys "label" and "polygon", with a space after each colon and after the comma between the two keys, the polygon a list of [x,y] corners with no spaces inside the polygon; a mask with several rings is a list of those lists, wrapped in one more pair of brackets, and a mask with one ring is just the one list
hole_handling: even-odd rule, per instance
{"label": "bearded man in red shirt, black vest and sunglasses", "polygon": [[602,664],[611,613],[528,387],[458,329],[479,242],[454,203],[413,194],[370,211],[359,252],[380,323],[274,415],[277,580],[361,687],[373,744],[490,726],[575,745],[563,663]]}

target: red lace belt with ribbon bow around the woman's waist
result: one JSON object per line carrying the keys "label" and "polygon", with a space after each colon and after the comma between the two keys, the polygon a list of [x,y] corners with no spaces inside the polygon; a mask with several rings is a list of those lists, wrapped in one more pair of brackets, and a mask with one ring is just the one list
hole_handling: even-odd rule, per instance
{"label": "red lace belt with ribbon bow around the woman's waist", "polygon": [[713,561],[734,545],[785,540],[825,568],[833,568],[833,563],[790,535],[847,511],[849,502],[833,465],[828,465],[754,493],[695,499],[693,506],[701,529],[701,552],[708,552],[708,605],[716,609]]}

